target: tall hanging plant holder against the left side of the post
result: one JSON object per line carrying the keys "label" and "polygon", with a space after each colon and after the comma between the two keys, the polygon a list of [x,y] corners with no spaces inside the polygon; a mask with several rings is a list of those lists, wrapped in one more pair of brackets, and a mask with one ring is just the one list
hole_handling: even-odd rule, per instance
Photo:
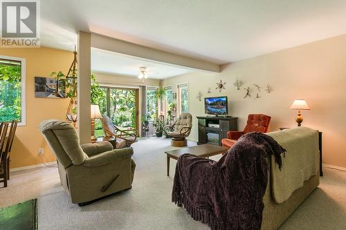
{"label": "tall hanging plant holder against the left side of the post", "polygon": [[66,86],[69,88],[69,98],[70,103],[69,107],[66,111],[66,120],[67,122],[72,122],[73,126],[77,128],[77,51],[73,52],[73,62],[71,64],[71,67],[69,69],[69,72],[66,75]]}

